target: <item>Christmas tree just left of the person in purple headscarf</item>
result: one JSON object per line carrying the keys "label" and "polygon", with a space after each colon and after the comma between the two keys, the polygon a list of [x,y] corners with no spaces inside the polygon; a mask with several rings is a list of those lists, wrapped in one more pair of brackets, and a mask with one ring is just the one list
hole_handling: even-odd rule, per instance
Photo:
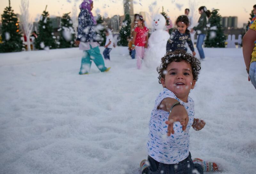
{"label": "Christmas tree just left of the person in purple headscarf", "polygon": [[[69,12],[70,13],[70,12]],[[70,48],[74,47],[75,42],[75,31],[73,28],[73,22],[69,16],[69,13],[63,14],[60,21],[60,38],[59,38],[59,48]]]}

